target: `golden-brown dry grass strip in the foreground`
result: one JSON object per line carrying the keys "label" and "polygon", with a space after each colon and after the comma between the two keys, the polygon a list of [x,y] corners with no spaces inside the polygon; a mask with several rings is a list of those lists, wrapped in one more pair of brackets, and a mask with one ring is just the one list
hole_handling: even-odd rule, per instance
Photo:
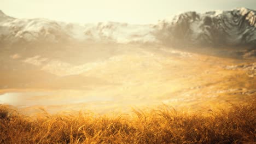
{"label": "golden-brown dry grass strip in the foreground", "polygon": [[254,143],[255,102],[214,112],[134,110],[134,115],[21,115],[0,105],[0,143]]}

